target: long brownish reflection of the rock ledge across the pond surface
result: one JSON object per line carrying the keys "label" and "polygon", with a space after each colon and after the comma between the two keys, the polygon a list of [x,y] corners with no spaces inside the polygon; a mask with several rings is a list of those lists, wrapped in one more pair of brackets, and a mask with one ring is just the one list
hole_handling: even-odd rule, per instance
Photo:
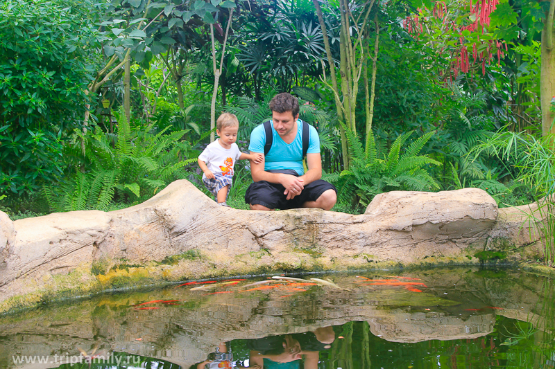
{"label": "long brownish reflection of the rock ledge across the pond surface", "polygon": [[[506,273],[496,279],[477,271],[441,269],[418,277],[429,287],[421,294],[362,289],[354,285],[354,276],[331,276],[341,286],[350,284],[352,291],[318,287],[289,298],[256,292],[199,299],[205,291],[170,288],[30,310],[0,318],[0,367],[12,366],[14,354],[77,355],[77,347],[90,350],[95,342],[101,349],[189,366],[205,359],[221,341],[307,332],[349,321],[368,321],[373,334],[396,342],[484,336],[493,331],[497,314],[545,321],[537,309],[540,278]],[[130,307],[155,299],[185,300],[187,305]]]}

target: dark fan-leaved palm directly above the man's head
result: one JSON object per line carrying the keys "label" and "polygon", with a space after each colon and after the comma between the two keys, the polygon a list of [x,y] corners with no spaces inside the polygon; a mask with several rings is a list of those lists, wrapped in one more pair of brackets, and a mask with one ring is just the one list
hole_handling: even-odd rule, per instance
{"label": "dark fan-leaved palm directly above the man's head", "polygon": [[263,82],[282,92],[320,75],[323,33],[310,0],[276,2],[256,10],[235,35],[237,59],[248,73],[255,99],[262,100]]}

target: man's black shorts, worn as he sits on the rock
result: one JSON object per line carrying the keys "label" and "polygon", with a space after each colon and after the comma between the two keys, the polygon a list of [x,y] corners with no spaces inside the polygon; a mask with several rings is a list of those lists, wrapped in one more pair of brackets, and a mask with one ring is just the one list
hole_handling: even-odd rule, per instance
{"label": "man's black shorts, worn as he sits on the rock", "polygon": [[248,186],[245,202],[250,205],[266,206],[268,209],[296,209],[302,208],[302,204],[307,201],[316,201],[327,190],[337,192],[332,183],[318,179],[307,184],[300,195],[287,200],[287,196],[283,195],[285,188],[280,183],[258,181]]}

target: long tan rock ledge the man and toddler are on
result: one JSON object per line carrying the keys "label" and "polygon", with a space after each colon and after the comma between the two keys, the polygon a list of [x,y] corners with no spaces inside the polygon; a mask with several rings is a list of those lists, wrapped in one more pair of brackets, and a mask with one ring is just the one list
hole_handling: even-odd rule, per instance
{"label": "long tan rock ledge the man and toddler are on", "polygon": [[111,213],[55,213],[13,223],[0,216],[0,312],[60,294],[203,276],[477,263],[476,251],[486,244],[495,249],[488,244],[492,230],[505,240],[509,260],[518,260],[522,250],[511,250],[530,240],[515,238],[520,224],[497,215],[494,199],[477,188],[388,192],[364,215],[348,215],[221,208],[181,180]]}

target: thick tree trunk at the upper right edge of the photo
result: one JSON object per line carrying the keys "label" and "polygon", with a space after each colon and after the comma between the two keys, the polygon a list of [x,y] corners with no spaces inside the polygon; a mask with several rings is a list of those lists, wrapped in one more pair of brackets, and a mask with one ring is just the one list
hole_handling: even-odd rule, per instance
{"label": "thick tree trunk at the upper right edge of the photo", "polygon": [[549,111],[551,100],[555,97],[555,50],[553,19],[555,0],[551,0],[542,31],[542,66],[540,76],[540,96],[542,107],[542,134],[555,134],[553,120],[555,113]]}

